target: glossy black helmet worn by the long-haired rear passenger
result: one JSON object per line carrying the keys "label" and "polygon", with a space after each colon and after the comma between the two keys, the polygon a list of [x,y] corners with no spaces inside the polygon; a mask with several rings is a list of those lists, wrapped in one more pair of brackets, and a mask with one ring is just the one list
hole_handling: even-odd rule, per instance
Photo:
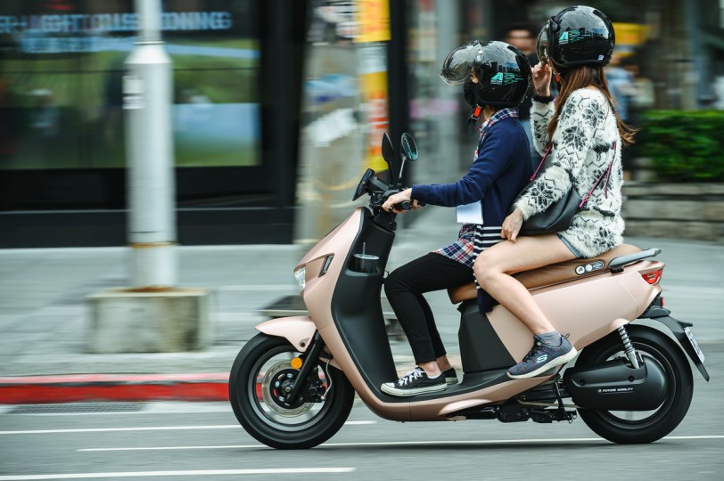
{"label": "glossy black helmet worn by the long-haired rear passenger", "polygon": [[603,12],[585,5],[568,7],[547,20],[540,31],[536,51],[555,67],[607,65],[616,37],[613,24]]}

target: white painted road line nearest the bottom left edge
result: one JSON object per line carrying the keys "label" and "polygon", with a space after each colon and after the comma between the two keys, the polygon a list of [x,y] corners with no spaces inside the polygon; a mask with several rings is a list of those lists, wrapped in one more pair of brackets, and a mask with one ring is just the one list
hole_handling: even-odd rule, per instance
{"label": "white painted road line nearest the bottom left edge", "polygon": [[228,475],[279,475],[279,474],[340,474],[356,468],[296,468],[296,469],[201,469],[195,471],[125,471],[119,473],[72,473],[46,475],[0,476],[0,481],[25,481],[30,479],[90,479],[103,477],[157,477],[157,476],[228,476]]}

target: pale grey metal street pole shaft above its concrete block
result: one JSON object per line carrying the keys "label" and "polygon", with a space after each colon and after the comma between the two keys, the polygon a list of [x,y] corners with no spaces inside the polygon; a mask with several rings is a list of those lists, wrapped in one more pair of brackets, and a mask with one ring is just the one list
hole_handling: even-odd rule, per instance
{"label": "pale grey metal street pole shaft above its concrete block", "polygon": [[139,36],[123,77],[128,150],[128,242],[136,290],[177,284],[171,59],[160,0],[136,0]]}

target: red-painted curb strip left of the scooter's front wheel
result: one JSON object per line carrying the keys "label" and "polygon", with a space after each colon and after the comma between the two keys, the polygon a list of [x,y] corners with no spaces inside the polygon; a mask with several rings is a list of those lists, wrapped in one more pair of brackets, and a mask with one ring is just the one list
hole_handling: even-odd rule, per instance
{"label": "red-painted curb strip left of the scooter's front wheel", "polygon": [[93,374],[0,378],[0,404],[228,401],[228,374]]}

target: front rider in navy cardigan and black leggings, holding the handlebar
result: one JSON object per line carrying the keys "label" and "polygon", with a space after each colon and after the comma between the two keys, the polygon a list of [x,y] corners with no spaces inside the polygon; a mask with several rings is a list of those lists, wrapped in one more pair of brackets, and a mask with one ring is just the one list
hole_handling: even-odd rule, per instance
{"label": "front rider in navy cardigan and black leggings, holding the handlebar", "polygon": [[464,85],[473,101],[473,118],[481,116],[480,140],[473,165],[456,183],[413,185],[393,194],[383,208],[412,201],[443,207],[470,206],[473,223],[462,225],[458,239],[390,273],[384,290],[407,334],[415,369],[381,387],[390,395],[417,395],[457,383],[423,294],[473,281],[473,261],[500,242],[501,225],[515,196],[531,177],[528,138],[518,122],[518,109],[531,85],[531,64],[504,42],[473,42],[448,53],[440,77],[450,86]]}

